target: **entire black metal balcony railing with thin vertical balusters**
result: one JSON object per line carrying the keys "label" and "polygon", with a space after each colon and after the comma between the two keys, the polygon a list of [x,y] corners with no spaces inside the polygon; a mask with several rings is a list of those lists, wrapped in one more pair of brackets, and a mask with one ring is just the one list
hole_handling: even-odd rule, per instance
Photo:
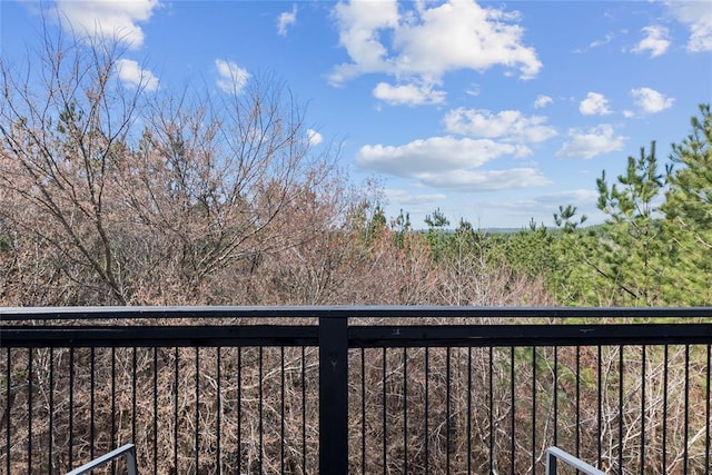
{"label": "entire black metal balcony railing with thin vertical balusters", "polygon": [[712,308],[0,319],[8,474],[62,474],[127,443],[155,474],[543,474],[550,446],[609,473],[710,473]]}

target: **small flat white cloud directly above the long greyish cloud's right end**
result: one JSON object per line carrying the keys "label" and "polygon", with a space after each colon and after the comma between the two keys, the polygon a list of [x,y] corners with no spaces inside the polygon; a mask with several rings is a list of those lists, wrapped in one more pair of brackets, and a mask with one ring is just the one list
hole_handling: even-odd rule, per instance
{"label": "small flat white cloud directly above the long greyish cloud's right end", "polygon": [[556,136],[556,129],[546,126],[546,117],[526,117],[518,110],[503,110],[496,115],[488,110],[454,109],[444,119],[452,133],[471,137],[502,138],[505,141],[541,142]]}

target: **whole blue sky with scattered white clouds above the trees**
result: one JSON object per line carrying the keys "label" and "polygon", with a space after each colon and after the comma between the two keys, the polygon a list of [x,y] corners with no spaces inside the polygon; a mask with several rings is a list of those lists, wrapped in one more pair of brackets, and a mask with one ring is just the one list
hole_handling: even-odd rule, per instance
{"label": "whole blue sky with scattered white clouds above the trees", "polygon": [[[59,14],[57,14],[59,13]],[[712,1],[0,0],[0,48],[49,28],[119,32],[116,73],[147,93],[240,93],[271,73],[307,110],[315,149],[379,185],[415,228],[589,222],[595,180],[652,140],[660,161],[712,102]]]}

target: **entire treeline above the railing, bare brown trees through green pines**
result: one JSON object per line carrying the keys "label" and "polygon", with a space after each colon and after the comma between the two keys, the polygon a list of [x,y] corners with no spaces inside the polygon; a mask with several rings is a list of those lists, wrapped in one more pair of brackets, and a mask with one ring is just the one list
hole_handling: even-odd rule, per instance
{"label": "entire treeline above the railing, bare brown trees through green pines", "polygon": [[270,76],[126,87],[120,51],[46,37],[0,63],[0,305],[709,305],[711,115],[597,180],[602,226],[415,231],[315,149]]}

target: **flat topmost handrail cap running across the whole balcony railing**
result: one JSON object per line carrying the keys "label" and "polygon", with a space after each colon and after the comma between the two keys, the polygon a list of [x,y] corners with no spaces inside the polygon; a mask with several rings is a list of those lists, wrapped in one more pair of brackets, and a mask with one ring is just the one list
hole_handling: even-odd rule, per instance
{"label": "flat topmost handrail cap running across the whole balcony railing", "polygon": [[102,318],[712,318],[712,307],[167,306],[0,307],[0,321]]}

